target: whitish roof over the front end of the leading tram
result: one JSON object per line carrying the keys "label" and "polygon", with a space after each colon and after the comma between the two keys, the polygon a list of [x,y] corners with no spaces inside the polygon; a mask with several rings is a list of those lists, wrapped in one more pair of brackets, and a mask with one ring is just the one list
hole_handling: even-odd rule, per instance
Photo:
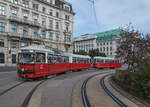
{"label": "whitish roof over the front end of the leading tram", "polygon": [[20,48],[20,52],[49,52],[54,53],[52,50],[46,48],[44,45],[30,45],[27,47]]}

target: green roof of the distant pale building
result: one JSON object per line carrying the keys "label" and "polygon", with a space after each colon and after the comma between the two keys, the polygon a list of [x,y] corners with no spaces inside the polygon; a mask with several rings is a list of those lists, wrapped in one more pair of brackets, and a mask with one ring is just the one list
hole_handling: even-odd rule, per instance
{"label": "green roof of the distant pale building", "polygon": [[125,31],[122,29],[113,29],[105,32],[95,33],[95,35],[97,36],[97,41],[100,42],[113,40],[114,38],[116,38],[117,35],[120,35],[122,37],[124,36],[124,33]]}

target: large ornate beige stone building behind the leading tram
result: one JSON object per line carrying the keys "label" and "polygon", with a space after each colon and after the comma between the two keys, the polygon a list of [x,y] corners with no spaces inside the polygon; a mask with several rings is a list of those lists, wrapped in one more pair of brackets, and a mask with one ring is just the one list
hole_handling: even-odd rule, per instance
{"label": "large ornate beige stone building behind the leading tram", "polygon": [[15,66],[18,49],[31,44],[72,53],[74,15],[65,0],[1,0],[0,66]]}

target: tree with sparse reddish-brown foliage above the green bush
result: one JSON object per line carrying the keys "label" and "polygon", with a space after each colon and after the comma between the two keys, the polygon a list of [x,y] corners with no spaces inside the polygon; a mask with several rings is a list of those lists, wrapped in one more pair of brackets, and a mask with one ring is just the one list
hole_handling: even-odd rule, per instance
{"label": "tree with sparse reddish-brown foliage above the green bush", "polygon": [[135,71],[139,63],[150,55],[150,35],[144,36],[134,29],[126,30],[116,53],[117,58],[128,64],[128,69]]}

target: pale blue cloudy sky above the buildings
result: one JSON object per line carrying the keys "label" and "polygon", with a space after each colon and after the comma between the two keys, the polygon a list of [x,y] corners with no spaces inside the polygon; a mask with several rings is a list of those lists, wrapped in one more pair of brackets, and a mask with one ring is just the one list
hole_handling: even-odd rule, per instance
{"label": "pale blue cloudy sky above the buildings", "polygon": [[66,0],[76,13],[74,37],[83,34],[126,28],[129,23],[141,33],[150,33],[150,0]]}

